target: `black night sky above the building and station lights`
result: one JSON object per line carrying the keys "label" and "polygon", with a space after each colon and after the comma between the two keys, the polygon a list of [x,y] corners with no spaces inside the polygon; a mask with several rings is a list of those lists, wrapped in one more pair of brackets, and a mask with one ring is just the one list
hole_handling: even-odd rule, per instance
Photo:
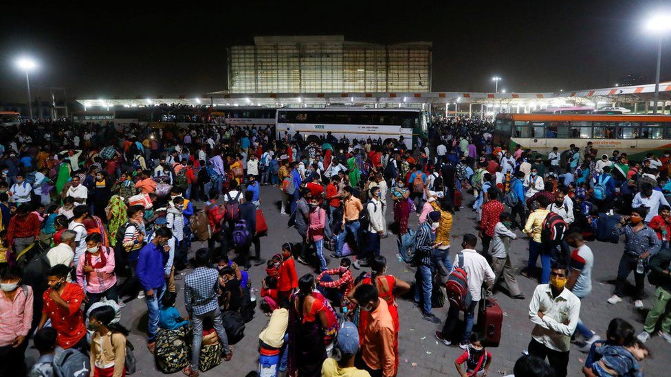
{"label": "black night sky above the building and station lights", "polygon": [[[610,87],[630,73],[654,80],[657,37],[643,21],[671,11],[670,1],[13,3],[0,26],[0,102],[25,101],[22,53],[41,64],[32,85],[78,98],[223,90],[226,47],[255,35],[432,41],[434,91],[493,91],[495,75],[507,91]],[[661,72],[671,78],[671,35]]]}

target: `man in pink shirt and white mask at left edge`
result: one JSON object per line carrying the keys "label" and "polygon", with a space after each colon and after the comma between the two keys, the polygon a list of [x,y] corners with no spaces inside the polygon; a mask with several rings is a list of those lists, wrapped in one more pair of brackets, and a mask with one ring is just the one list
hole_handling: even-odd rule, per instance
{"label": "man in pink shirt and white mask at left edge", "polygon": [[0,277],[0,376],[25,376],[33,290],[21,277],[18,266],[7,267]]}

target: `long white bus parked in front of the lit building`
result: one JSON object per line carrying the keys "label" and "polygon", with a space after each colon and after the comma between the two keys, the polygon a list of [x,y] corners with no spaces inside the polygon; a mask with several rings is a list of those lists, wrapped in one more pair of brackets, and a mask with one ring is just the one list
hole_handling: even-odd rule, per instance
{"label": "long white bus parked in front of the lit building", "polygon": [[285,131],[303,133],[308,141],[318,141],[331,133],[337,139],[382,139],[386,144],[403,137],[407,148],[426,137],[426,113],[414,108],[280,108],[276,135]]}

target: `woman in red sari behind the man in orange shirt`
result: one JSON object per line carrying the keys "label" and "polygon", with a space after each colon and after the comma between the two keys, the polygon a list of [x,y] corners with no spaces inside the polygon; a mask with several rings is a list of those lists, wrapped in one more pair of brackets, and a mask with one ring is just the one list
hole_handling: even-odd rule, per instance
{"label": "woman in red sari behind the man in orange shirt", "polygon": [[[377,287],[377,292],[380,295],[381,299],[386,301],[389,307],[389,314],[391,314],[391,319],[394,322],[394,354],[396,356],[396,369],[398,369],[399,363],[399,354],[398,354],[398,333],[399,333],[399,317],[398,317],[398,304],[396,303],[396,296],[404,295],[408,290],[410,290],[410,284],[404,282],[393,275],[384,275],[387,269],[387,260],[382,255],[377,255],[373,260],[371,260],[371,274],[364,277],[362,281],[357,285],[361,284],[373,284]],[[347,298],[357,304],[356,299],[354,299],[354,291],[356,287],[349,291]],[[360,339],[363,339],[364,330],[368,325],[370,319],[370,312],[361,311],[359,315],[359,336]]]}

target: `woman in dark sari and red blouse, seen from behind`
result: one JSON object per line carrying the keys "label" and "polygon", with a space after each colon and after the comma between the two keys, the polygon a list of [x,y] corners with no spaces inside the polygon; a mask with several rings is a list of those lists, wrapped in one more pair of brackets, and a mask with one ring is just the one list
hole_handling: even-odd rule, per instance
{"label": "woman in dark sari and red blouse, seen from behind", "polygon": [[289,376],[321,376],[322,363],[327,358],[326,303],[316,297],[312,275],[300,277],[298,289],[289,312]]}

